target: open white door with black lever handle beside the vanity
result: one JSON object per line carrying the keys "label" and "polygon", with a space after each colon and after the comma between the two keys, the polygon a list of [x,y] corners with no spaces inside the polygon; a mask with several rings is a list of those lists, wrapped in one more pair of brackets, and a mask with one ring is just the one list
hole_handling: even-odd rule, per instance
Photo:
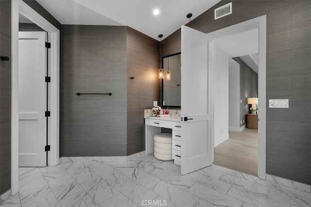
{"label": "open white door with black lever handle beside the vanity", "polygon": [[181,175],[213,162],[213,77],[212,37],[182,26]]}

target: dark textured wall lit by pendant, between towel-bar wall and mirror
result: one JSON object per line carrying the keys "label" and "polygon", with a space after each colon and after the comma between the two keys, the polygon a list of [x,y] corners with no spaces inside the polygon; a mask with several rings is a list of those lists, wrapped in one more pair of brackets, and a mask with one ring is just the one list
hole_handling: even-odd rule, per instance
{"label": "dark textured wall lit by pendant, between towel-bar wall and mirror", "polygon": [[159,42],[129,27],[126,40],[127,155],[131,155],[145,149],[144,109],[159,101]]}

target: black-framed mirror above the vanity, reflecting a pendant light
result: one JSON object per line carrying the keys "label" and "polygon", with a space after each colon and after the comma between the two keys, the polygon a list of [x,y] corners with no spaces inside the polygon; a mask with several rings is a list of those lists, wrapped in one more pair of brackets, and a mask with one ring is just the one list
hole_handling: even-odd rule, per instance
{"label": "black-framed mirror above the vanity, reflecting a pendant light", "polygon": [[[164,78],[162,80],[162,106],[180,107],[180,52],[162,58]],[[167,80],[167,71],[171,71],[170,78]]]}

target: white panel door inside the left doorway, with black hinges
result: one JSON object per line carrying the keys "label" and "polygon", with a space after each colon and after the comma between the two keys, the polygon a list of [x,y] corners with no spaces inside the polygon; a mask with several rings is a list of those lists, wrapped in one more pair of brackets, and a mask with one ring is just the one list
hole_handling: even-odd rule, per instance
{"label": "white panel door inside the left doorway, with black hinges", "polygon": [[18,166],[44,167],[47,154],[46,32],[19,32]]}

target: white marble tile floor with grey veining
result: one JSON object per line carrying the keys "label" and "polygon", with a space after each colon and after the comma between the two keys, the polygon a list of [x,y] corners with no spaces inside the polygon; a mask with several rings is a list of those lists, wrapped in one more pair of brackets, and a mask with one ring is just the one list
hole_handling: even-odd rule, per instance
{"label": "white marble tile floor with grey veining", "polygon": [[119,162],[19,168],[19,192],[1,207],[310,207],[310,185],[261,180],[221,166],[180,175],[152,155]]}

